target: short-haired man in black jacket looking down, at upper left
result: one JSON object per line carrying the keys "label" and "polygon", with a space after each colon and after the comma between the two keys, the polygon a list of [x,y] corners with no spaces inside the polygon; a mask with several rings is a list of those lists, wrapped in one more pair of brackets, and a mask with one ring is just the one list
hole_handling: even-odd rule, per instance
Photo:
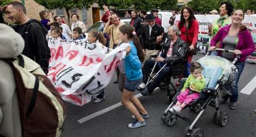
{"label": "short-haired man in black jacket looking down, at upper left", "polygon": [[22,3],[14,1],[5,6],[4,11],[7,19],[12,20],[14,30],[19,33],[25,41],[25,48],[22,54],[38,63],[47,74],[51,52],[46,40],[48,33],[38,20],[29,19],[26,15],[26,8]]}

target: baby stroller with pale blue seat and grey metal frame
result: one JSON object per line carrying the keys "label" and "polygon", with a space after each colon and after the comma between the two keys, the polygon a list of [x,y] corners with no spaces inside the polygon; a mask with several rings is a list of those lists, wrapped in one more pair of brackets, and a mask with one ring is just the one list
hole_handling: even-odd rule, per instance
{"label": "baby stroller with pale blue seat and grey metal frame", "polygon": [[[234,51],[227,49],[216,49],[216,51],[234,53]],[[237,69],[234,64],[236,63],[237,59],[239,59],[239,56],[237,56],[233,62],[230,62],[223,57],[208,56],[209,54],[210,52],[208,52],[205,57],[197,60],[197,62],[203,66],[203,76],[205,77],[207,88],[202,90],[200,97],[197,100],[186,106],[194,112],[199,113],[195,120],[191,121],[186,117],[182,117],[181,115],[173,114],[169,110],[172,106],[174,106],[174,104],[176,104],[176,96],[179,93],[174,96],[173,102],[171,102],[168,108],[164,110],[164,114],[161,117],[163,122],[168,126],[173,126],[178,117],[188,122],[190,125],[185,130],[185,136],[203,136],[203,130],[201,128],[197,128],[195,123],[203,114],[210,102],[214,102],[213,107],[215,107],[216,110],[215,114],[213,115],[213,122],[220,125],[220,127],[224,127],[228,123],[228,113],[221,112],[218,106],[218,94],[220,94],[221,88],[223,88],[224,84],[231,81],[234,73],[237,73]],[[181,88],[184,85],[184,81],[185,80],[182,80]],[[184,107],[184,109],[186,109],[186,107]]]}

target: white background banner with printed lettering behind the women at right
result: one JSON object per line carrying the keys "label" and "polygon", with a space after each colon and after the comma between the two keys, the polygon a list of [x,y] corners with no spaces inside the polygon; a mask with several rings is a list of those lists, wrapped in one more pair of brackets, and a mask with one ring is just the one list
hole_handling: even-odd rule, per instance
{"label": "white background banner with printed lettering behind the women at right", "polygon": [[[211,39],[211,37],[208,36],[208,25],[212,25],[213,21],[220,18],[220,15],[195,15],[195,18],[199,23],[197,48],[200,50],[200,52],[205,53]],[[179,23],[180,19],[181,15],[177,15],[175,20],[176,25]],[[256,15],[245,15],[242,23],[249,28],[252,38],[254,39],[254,43],[256,43]],[[247,57],[247,62],[256,62],[255,55],[256,52]]]}

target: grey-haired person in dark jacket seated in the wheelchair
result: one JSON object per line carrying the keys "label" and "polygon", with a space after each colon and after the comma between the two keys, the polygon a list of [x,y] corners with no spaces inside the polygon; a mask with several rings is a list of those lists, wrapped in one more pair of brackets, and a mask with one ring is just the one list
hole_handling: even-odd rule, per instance
{"label": "grey-haired person in dark jacket seated in the wheelchair", "polygon": [[[181,31],[175,25],[168,28],[168,35],[165,41],[161,40],[162,50],[155,60],[148,59],[142,68],[143,83],[139,86],[138,90],[141,94],[147,96],[160,85],[164,79],[171,74],[173,64],[176,62],[184,62],[187,54],[187,44],[180,37]],[[153,68],[153,70],[151,70]],[[151,71],[151,73],[150,73]],[[151,77],[154,71],[158,71],[154,77]]]}

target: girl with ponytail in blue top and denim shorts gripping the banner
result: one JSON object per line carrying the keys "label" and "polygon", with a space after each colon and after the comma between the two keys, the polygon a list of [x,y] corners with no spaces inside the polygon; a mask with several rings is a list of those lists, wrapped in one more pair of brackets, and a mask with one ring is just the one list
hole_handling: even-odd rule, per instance
{"label": "girl with ponytail in blue top and denim shorts gripping the banner", "polygon": [[[133,114],[132,118],[137,119],[135,122],[130,123],[128,127],[139,128],[146,125],[144,118],[148,118],[148,112],[144,109],[139,99],[134,96],[135,89],[142,83],[141,65],[144,56],[139,38],[135,35],[134,27],[131,25],[119,27],[119,39],[130,44],[126,48],[126,58],[123,60],[124,66],[121,69],[124,71],[122,73],[126,75],[121,102]],[[139,109],[140,113],[137,109]]]}

